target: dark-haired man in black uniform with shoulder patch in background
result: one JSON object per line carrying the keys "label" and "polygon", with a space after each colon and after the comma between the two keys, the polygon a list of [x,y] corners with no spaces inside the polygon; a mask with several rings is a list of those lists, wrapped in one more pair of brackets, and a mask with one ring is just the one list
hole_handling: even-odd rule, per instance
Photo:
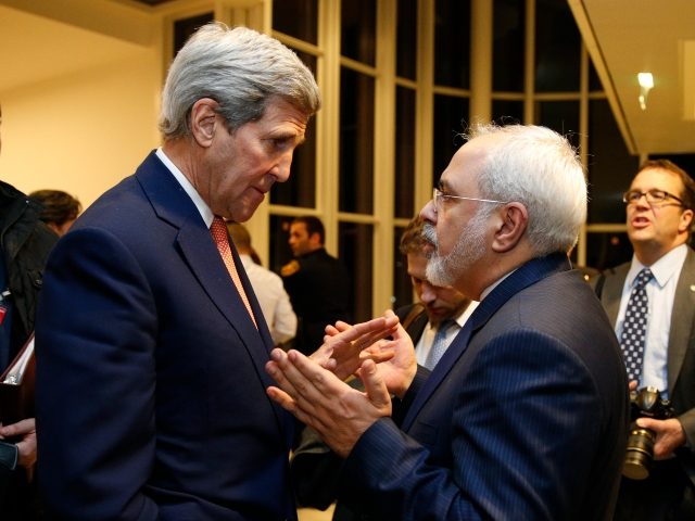
{"label": "dark-haired man in black uniform with shoulder patch in background", "polygon": [[299,318],[294,348],[309,355],[324,343],[324,328],[351,320],[351,281],[342,263],[324,247],[324,224],[314,216],[296,217],[289,244],[294,258],[280,276]]}

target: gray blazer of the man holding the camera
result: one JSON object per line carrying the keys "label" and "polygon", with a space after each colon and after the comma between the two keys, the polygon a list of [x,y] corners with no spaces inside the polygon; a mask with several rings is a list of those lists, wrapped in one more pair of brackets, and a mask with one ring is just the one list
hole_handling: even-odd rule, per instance
{"label": "gray blazer of the man holding the camera", "polygon": [[[614,326],[629,270],[630,263],[621,264],[596,279],[596,292]],[[695,252],[690,247],[675,287],[667,356],[671,405],[690,447],[695,447]],[[679,456],[686,472],[695,479],[695,453],[684,448]]]}

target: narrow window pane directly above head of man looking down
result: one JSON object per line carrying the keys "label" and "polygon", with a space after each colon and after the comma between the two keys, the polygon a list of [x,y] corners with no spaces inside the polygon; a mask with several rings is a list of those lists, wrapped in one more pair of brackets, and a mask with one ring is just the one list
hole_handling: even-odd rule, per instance
{"label": "narrow window pane directly above head of man looking down", "polygon": [[415,91],[396,87],[395,190],[396,217],[410,218],[415,204]]}

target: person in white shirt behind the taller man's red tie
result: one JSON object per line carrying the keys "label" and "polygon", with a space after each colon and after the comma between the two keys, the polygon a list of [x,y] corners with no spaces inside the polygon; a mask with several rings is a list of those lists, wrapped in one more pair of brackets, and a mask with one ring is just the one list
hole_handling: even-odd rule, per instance
{"label": "person in white shirt behind the taller man's red tie", "polygon": [[274,344],[281,345],[292,340],[296,334],[296,315],[292,310],[290,296],[285,291],[282,279],[277,274],[253,262],[251,258],[253,252],[251,234],[243,225],[227,223],[227,229],[237,247],[243,269],[251,280],[253,292],[258,298]]}

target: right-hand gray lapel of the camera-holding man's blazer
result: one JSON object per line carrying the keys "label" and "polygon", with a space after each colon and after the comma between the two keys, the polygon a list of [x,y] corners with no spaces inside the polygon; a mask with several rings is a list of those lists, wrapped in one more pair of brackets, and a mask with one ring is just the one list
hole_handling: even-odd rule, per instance
{"label": "right-hand gray lapel of the camera-holding man's blazer", "polygon": [[691,340],[693,320],[695,319],[695,252],[690,247],[681,275],[675,287],[673,309],[671,312],[671,328],[669,332],[668,379],[669,391],[673,393],[673,385],[681,372],[685,353]]}

